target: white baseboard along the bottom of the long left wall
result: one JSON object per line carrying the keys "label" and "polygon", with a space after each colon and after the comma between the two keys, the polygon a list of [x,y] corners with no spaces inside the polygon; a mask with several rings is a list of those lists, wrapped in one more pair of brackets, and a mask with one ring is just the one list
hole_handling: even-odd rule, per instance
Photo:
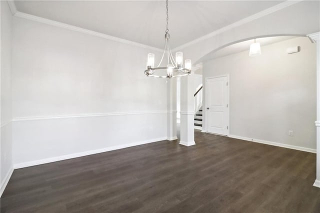
{"label": "white baseboard along the bottom of the long left wall", "polygon": [[72,153],[72,154],[66,154],[66,155],[61,155],[61,156],[56,156],[56,157],[49,157],[49,158],[44,158],[44,159],[39,159],[39,160],[32,160],[28,162],[21,162],[21,163],[14,163],[13,168],[24,168],[28,166],[33,166],[33,165],[39,165],[39,164],[44,164],[44,163],[49,163],[49,162],[56,162],[60,160],[65,160],[65,159],[71,159],[75,157],[82,157],[90,154],[97,154],[105,151],[112,151],[116,149],[121,149],[121,148],[127,148],[131,146],[136,146],[136,145],[142,145],[146,143],[151,143],[151,142],[158,142],[161,140],[166,140],[166,137],[159,137],[155,139],[150,139],[150,140],[144,140],[144,141],[139,141],[139,142],[132,142],[132,143],[126,143],[126,144],[121,144],[121,145],[115,145],[115,146],[109,146],[105,148],[100,148],[100,149],[94,149],[94,150],[89,150],[89,151],[83,151],[83,152],[78,152],[78,153]]}

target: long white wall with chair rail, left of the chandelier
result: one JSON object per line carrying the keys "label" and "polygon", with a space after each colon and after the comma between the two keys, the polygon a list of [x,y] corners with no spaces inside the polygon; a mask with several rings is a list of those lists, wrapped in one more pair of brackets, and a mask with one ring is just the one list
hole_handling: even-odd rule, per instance
{"label": "long white wall with chair rail, left of the chandelier", "polygon": [[148,52],[14,17],[16,167],[165,139],[166,82],[144,75]]}

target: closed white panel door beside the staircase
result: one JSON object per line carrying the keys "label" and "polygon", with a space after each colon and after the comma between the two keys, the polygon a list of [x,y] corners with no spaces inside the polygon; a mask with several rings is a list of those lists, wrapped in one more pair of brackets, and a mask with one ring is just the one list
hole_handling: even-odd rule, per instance
{"label": "closed white panel door beside the staircase", "polygon": [[206,130],[211,133],[228,135],[228,77],[207,78],[206,93]]}

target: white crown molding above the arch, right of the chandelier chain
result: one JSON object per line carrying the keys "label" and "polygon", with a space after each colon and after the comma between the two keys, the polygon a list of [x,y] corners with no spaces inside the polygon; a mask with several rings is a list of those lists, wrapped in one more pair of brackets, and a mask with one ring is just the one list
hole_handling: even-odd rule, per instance
{"label": "white crown molding above the arch, right of the chandelier chain", "polygon": [[172,49],[172,51],[174,52],[174,51],[177,51],[179,49],[183,49],[183,48],[185,48],[187,46],[190,46],[192,44],[198,43],[200,41],[203,41],[205,39],[213,37],[214,35],[220,34],[220,33],[224,32],[224,31],[227,31],[227,30],[230,30],[230,29],[235,28],[237,26],[240,26],[242,24],[248,23],[248,22],[250,22],[252,20],[258,19],[258,18],[263,17],[265,15],[271,14],[273,12],[276,12],[276,11],[278,11],[280,9],[283,9],[285,7],[288,7],[288,6],[291,6],[291,5],[293,5],[295,3],[298,3],[300,1],[302,1],[302,0],[286,0],[286,1],[282,2],[282,3],[279,3],[279,4],[276,4],[274,6],[271,6],[271,7],[267,8],[267,9],[264,9],[264,10],[262,10],[260,12],[255,13],[253,15],[245,17],[245,18],[243,18],[241,20],[238,20],[238,21],[236,21],[234,23],[231,23],[231,24],[229,24],[227,26],[224,26],[224,27],[219,28],[219,29],[217,29],[215,31],[212,31],[212,32],[210,32],[210,33],[208,33],[206,35],[203,35],[203,36],[198,37],[198,38],[196,38],[196,39],[194,39],[192,41],[189,41],[189,42],[184,43],[184,44],[182,44],[182,45],[180,45],[178,47],[175,47],[174,49]]}

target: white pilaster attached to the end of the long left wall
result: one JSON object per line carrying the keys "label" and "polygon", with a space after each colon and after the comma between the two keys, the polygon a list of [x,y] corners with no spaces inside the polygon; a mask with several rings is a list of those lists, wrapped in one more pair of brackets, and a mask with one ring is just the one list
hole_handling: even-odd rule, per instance
{"label": "white pilaster attached to the end of the long left wall", "polygon": [[176,140],[176,78],[167,79],[167,140]]}

